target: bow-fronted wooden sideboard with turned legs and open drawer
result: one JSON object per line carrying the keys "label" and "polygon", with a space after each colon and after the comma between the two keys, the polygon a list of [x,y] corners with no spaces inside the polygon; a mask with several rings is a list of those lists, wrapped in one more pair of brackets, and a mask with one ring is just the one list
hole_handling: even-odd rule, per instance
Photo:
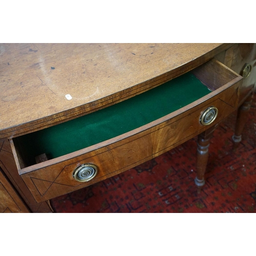
{"label": "bow-fronted wooden sideboard with turned legs and open drawer", "polygon": [[[255,44],[0,44],[0,211],[49,200],[209,138],[254,92]],[[196,150],[196,149],[195,149]]]}

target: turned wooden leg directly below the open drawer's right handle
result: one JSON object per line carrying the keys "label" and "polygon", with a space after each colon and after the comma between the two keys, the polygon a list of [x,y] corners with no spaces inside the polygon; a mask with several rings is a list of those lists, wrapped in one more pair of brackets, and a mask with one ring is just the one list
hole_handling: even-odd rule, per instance
{"label": "turned wooden leg directly below the open drawer's right handle", "polygon": [[197,177],[195,179],[195,183],[198,187],[198,193],[201,192],[202,186],[205,184],[204,174],[206,170],[206,165],[208,161],[208,147],[210,145],[210,138],[212,137],[212,133],[214,133],[217,125],[210,127],[205,132],[198,135],[197,142]]}

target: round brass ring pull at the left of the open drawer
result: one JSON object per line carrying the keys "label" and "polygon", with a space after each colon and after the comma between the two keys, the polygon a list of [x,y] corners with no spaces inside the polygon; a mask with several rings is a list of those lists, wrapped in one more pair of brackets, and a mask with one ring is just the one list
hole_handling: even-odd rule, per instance
{"label": "round brass ring pull at the left of the open drawer", "polygon": [[94,164],[81,164],[74,169],[73,178],[79,182],[87,182],[93,179],[97,172],[98,168]]}

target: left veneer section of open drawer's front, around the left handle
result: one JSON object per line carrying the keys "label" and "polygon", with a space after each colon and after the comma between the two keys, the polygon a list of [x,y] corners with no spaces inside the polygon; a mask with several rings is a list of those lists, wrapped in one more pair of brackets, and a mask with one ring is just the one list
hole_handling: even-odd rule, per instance
{"label": "left veneer section of open drawer's front, around the left handle", "polygon": [[[40,202],[104,180],[117,174],[116,172],[123,172],[152,158],[150,135],[124,143],[111,150],[108,149],[108,146],[102,150],[104,152],[90,152],[58,164],[37,169],[22,175],[22,178],[35,199]],[[98,173],[93,180],[81,183],[73,178],[73,171],[76,167],[85,163],[96,165]]]}

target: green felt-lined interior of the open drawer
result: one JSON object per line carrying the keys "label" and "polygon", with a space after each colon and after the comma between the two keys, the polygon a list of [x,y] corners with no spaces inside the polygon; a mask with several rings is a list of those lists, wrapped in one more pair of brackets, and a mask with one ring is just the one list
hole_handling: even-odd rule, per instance
{"label": "green felt-lined interior of the open drawer", "polygon": [[212,72],[216,61],[209,61],[207,65],[108,108],[13,138],[20,168],[36,164],[35,157],[41,154],[46,154],[48,159],[57,158],[137,129],[237,77],[230,72],[228,75],[218,70]]}

